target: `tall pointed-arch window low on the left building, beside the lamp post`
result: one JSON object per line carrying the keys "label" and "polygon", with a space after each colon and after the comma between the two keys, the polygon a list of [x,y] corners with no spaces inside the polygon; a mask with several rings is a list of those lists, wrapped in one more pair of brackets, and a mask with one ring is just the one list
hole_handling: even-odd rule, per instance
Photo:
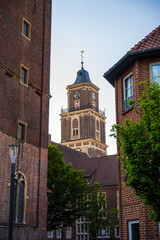
{"label": "tall pointed-arch window low on the left building, beside the lamp post", "polygon": [[13,221],[25,223],[26,180],[23,173],[18,172],[14,180]]}

